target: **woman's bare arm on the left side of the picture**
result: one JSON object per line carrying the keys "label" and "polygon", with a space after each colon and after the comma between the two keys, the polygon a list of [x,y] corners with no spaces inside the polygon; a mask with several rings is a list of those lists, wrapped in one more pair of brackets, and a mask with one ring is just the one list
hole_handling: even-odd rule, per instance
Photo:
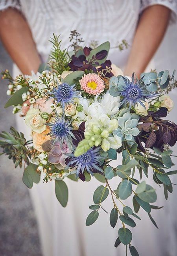
{"label": "woman's bare arm on the left side of the picture", "polygon": [[23,74],[36,72],[41,63],[28,23],[16,9],[0,12],[0,37]]}

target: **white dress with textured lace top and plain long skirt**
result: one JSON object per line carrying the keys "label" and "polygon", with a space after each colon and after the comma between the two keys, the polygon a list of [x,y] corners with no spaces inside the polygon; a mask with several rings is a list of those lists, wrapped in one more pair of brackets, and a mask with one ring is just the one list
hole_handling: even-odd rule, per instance
{"label": "white dress with textured lace top and plain long skirt", "polygon": [[[172,10],[171,21],[175,20],[176,0],[0,0],[0,10],[14,7],[24,14],[43,61],[47,59],[50,52],[51,45],[48,39],[53,32],[61,34],[65,47],[68,46],[70,31],[75,29],[81,33],[85,45],[89,45],[92,40],[97,40],[99,43],[110,41],[111,46],[116,46],[122,39],[126,39],[129,43],[128,49],[120,52],[112,48],[109,53],[112,63],[124,69],[139,15],[146,7],[154,4],[170,8]],[[16,66],[14,66],[15,74],[19,74]],[[17,120],[17,125],[18,130],[22,131],[22,119]],[[27,134],[24,127],[23,132]],[[117,187],[118,179],[117,177],[111,180],[113,189]],[[43,255],[124,255],[123,245],[120,245],[118,249],[114,248],[120,223],[113,230],[107,213],[100,211],[96,223],[89,227],[85,226],[86,217],[90,212],[89,205],[93,204],[93,192],[100,183],[94,178],[91,182],[79,181],[78,183],[68,179],[66,183],[69,189],[66,208],[62,208],[55,198],[54,182],[48,184],[40,182],[30,191],[37,213]],[[164,202],[163,197],[160,200]],[[130,200],[127,203],[129,205]],[[110,212],[111,198],[107,199],[103,205]],[[159,211],[153,216],[157,214],[160,216],[159,219],[166,221]],[[144,221],[137,221],[137,226],[133,230],[132,245],[139,250],[140,255],[177,255],[175,243],[165,243],[166,239],[169,239],[171,226],[161,223],[162,230],[157,232],[144,215],[145,213],[140,211],[140,216]],[[158,218],[156,218],[157,221]],[[163,232],[165,230],[166,232]]]}

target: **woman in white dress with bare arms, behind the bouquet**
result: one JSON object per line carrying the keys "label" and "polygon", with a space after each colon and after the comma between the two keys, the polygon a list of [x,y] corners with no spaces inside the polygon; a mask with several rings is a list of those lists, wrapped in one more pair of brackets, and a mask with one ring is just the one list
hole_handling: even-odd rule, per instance
{"label": "woman in white dress with bare arms, behind the bouquet", "polygon": [[[0,37],[15,63],[14,76],[20,72],[31,74],[31,70],[37,72],[40,63],[47,60],[52,32],[61,34],[67,48],[70,31],[77,29],[85,45],[89,46],[93,39],[99,44],[110,41],[113,48],[108,57],[112,63],[124,70],[125,75],[131,76],[134,71],[139,77],[160,45],[169,21],[175,19],[177,0],[0,0],[0,10]],[[115,46],[124,39],[129,47],[124,45],[120,51]],[[21,123],[17,118],[18,130],[29,135],[20,127]],[[30,191],[43,255],[124,255],[123,246],[119,251],[114,248],[118,234],[109,225],[106,213],[93,226],[85,227],[98,180],[78,183],[67,180],[70,195],[66,208],[55,198],[53,182],[41,181]],[[114,187],[116,184],[116,179],[112,180]],[[108,200],[105,208],[111,210]],[[142,219],[145,228],[141,230],[141,224],[137,225],[132,244],[140,255],[167,256],[170,248],[164,232],[157,232],[144,216]],[[168,233],[170,227],[167,228]]]}

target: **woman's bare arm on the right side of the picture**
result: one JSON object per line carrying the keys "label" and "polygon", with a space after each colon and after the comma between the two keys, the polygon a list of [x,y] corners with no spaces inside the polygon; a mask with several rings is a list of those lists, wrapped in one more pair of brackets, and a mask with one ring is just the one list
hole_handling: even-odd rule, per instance
{"label": "woman's bare arm on the right side of the picture", "polygon": [[139,77],[160,45],[168,26],[170,9],[155,5],[145,9],[140,17],[125,75],[134,71]]}

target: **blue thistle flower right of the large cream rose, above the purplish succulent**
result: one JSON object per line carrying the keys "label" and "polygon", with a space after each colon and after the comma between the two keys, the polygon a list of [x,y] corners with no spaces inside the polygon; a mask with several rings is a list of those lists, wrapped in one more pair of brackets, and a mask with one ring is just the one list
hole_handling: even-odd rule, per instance
{"label": "blue thistle flower right of the large cream rose, above the purplish succulent", "polygon": [[[57,113],[56,113],[57,114]],[[74,137],[70,127],[70,122],[65,121],[63,118],[59,118],[58,114],[55,117],[55,120],[51,123],[47,123],[48,126],[50,126],[50,135],[53,137],[54,143],[55,141],[59,141],[60,145],[63,144],[63,142],[68,142],[70,140],[70,137]]]}

